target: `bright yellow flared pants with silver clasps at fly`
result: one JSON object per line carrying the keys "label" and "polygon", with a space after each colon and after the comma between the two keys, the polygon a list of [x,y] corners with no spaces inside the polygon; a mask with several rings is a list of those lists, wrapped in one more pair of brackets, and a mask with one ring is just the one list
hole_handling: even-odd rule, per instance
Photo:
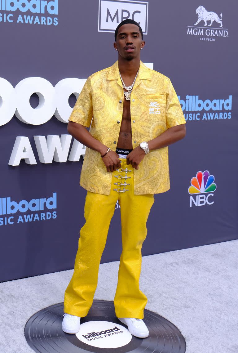
{"label": "bright yellow flared pants with silver clasps at fly", "polygon": [[125,159],[120,160],[121,169],[112,172],[110,195],[89,191],[86,195],[86,222],[80,230],[74,273],[65,291],[64,312],[71,315],[84,317],[92,305],[99,263],[118,200],[121,207],[122,253],[114,298],[115,313],[117,317],[144,317],[147,298],[139,289],[141,247],[146,238],[146,221],[154,196],[134,195],[133,168],[126,164]]}

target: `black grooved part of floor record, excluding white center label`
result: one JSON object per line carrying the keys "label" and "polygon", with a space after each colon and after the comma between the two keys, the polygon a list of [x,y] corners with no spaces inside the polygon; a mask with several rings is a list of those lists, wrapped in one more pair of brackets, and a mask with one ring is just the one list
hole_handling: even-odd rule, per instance
{"label": "black grooved part of floor record, excluding white center label", "polygon": [[[76,335],[62,331],[63,303],[48,306],[35,313],[26,323],[25,337],[29,346],[37,353],[184,353],[186,343],[178,328],[164,317],[146,310],[144,322],[149,336],[140,339],[132,336],[125,346],[118,348],[97,348],[81,342]],[[80,323],[88,321],[109,321],[125,326],[115,316],[112,301],[94,300],[93,305]]]}

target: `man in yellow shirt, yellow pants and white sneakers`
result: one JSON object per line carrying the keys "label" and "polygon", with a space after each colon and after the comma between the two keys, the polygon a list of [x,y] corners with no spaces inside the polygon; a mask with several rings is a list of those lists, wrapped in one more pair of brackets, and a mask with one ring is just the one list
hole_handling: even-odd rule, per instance
{"label": "man in yellow shirt, yellow pants and white sneakers", "polygon": [[140,61],[144,45],[139,24],[121,22],[114,43],[118,61],[87,79],[69,118],[68,132],[87,146],[80,177],[87,196],[86,222],[65,291],[62,329],[66,333],[78,332],[80,317],[92,305],[118,201],[122,254],[115,313],[134,336],[148,336],[142,320],[147,298],[139,289],[141,247],[153,195],[170,187],[167,146],[185,136],[185,119],[170,80]]}

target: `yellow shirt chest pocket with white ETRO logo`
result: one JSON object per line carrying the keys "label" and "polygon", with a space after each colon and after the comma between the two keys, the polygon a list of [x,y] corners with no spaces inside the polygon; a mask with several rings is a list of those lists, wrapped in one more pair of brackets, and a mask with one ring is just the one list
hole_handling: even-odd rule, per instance
{"label": "yellow shirt chest pocket with white ETRO logo", "polygon": [[165,119],[165,94],[146,95],[146,106],[149,117],[158,118],[159,120]]}

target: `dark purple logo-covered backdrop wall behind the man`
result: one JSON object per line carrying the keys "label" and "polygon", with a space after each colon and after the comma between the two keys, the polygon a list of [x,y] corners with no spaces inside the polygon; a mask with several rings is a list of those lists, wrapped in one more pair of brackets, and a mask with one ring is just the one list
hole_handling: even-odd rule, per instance
{"label": "dark purple logo-covered backdrop wall behind the man", "polygon": [[[235,0],[0,0],[0,281],[74,266],[85,149],[66,123],[85,79],[117,60],[125,18],[141,24],[141,59],[171,79],[187,120],[143,255],[237,238],[237,10]],[[120,252],[116,205],[102,262]]]}

